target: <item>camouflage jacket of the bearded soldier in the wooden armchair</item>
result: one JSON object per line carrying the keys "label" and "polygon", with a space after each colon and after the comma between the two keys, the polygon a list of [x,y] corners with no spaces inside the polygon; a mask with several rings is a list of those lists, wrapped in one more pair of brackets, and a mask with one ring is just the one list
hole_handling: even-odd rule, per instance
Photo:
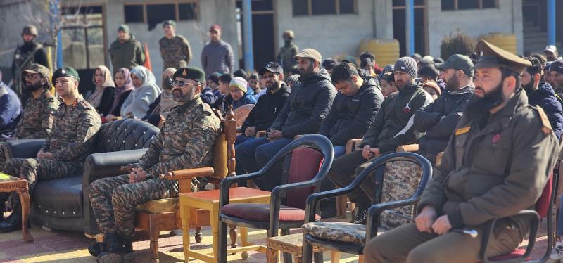
{"label": "camouflage jacket of the bearded soldier in the wooden armchair", "polygon": [[170,110],[160,133],[139,160],[147,177],[211,165],[220,127],[208,104],[196,98]]}

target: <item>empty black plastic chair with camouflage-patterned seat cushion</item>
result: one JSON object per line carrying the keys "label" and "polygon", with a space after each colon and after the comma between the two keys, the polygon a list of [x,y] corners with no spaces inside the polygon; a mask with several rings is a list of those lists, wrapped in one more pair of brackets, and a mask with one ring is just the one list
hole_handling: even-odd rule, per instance
{"label": "empty black plastic chair with camouflage-patterned seat cushion", "polygon": [[[352,193],[356,189],[360,188],[360,184],[364,180],[373,179],[376,182],[374,203],[381,202],[383,191],[382,181],[385,177],[384,171],[386,163],[399,160],[414,162],[422,168],[422,176],[419,181],[417,191],[414,195],[412,195],[412,197],[406,200],[395,200],[388,203],[373,205],[368,210],[370,213],[367,217],[367,224],[365,226],[343,222],[313,222],[315,221],[313,214],[316,210],[317,203],[319,203],[320,200]],[[310,263],[312,261],[313,247],[360,255],[360,260],[358,262],[362,262],[364,245],[367,243],[367,240],[369,240],[372,236],[375,236],[374,233],[377,233],[377,226],[379,226],[379,214],[381,214],[381,212],[374,214],[374,207],[384,207],[384,209],[381,210],[384,211],[417,203],[420,195],[422,195],[422,191],[426,188],[426,183],[431,177],[432,165],[422,155],[407,152],[390,153],[377,158],[377,160],[372,162],[371,165],[360,172],[358,177],[356,177],[350,185],[310,195],[309,198],[307,198],[307,207],[305,208],[306,224],[301,227],[304,231],[302,262]]]}

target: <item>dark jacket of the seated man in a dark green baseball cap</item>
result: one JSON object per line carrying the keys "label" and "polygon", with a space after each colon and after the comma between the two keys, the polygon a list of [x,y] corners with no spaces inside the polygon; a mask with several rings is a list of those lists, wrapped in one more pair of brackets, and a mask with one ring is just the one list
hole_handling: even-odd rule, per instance
{"label": "dark jacket of the seated man in a dark green baseball cap", "polygon": [[426,133],[419,139],[420,150],[432,154],[445,150],[473,93],[473,86],[466,86],[458,91],[446,91],[436,98],[436,101],[415,113],[412,127],[416,131]]}

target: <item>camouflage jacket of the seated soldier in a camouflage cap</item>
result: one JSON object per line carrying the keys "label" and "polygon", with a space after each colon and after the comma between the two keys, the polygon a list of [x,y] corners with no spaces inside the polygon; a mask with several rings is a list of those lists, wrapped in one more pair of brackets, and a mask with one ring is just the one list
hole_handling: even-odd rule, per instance
{"label": "camouflage jacket of the seated soldier in a camouflage cap", "polygon": [[23,115],[16,127],[16,139],[46,138],[53,128],[54,113],[58,102],[50,91],[44,91],[41,96],[30,96],[23,108]]}

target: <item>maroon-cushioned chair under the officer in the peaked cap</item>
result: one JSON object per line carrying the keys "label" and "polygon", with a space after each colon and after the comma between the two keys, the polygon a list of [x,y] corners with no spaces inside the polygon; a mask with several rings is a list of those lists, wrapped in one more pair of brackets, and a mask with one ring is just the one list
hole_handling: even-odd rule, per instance
{"label": "maroon-cushioned chair under the officer in the peaked cap", "polygon": [[536,244],[536,236],[538,235],[538,229],[540,226],[540,218],[547,217],[548,218],[548,246],[545,249],[545,254],[541,259],[533,260],[531,262],[546,262],[550,258],[551,248],[553,247],[553,204],[555,204],[555,198],[557,198],[557,184],[554,184],[554,181],[558,181],[558,174],[553,173],[548,180],[548,183],[545,184],[543,188],[543,192],[536,202],[535,210],[521,210],[518,214],[515,214],[512,217],[529,217],[531,219],[530,223],[530,233],[529,233],[529,241],[526,249],[516,249],[513,252],[510,252],[507,255],[500,255],[498,257],[491,257],[488,259],[486,257],[487,254],[487,247],[488,247],[488,239],[491,238],[493,234],[493,229],[495,227],[495,223],[498,219],[493,219],[486,227],[485,231],[483,232],[483,240],[481,241],[481,252],[479,256],[481,257],[481,262],[502,262],[502,263],[512,263],[512,262],[528,262],[529,255],[533,250],[533,245]]}

